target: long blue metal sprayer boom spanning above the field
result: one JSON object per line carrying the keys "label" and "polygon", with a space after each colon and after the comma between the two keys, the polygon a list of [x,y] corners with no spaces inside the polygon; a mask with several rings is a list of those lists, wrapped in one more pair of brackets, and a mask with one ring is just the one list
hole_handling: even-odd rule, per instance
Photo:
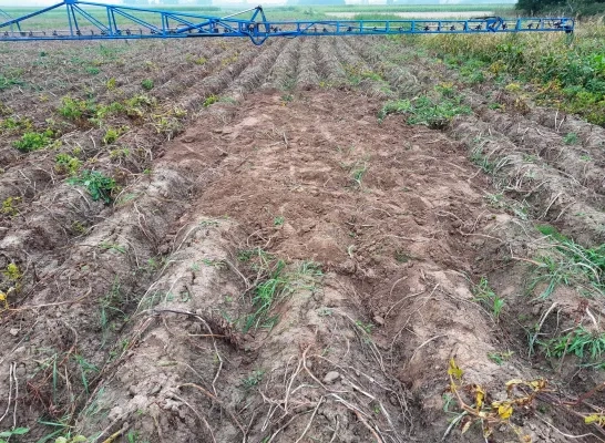
{"label": "long blue metal sprayer boom spanning above the field", "polygon": [[[61,29],[39,30],[34,20],[51,11],[63,11]],[[250,14],[245,19],[242,16]],[[48,17],[48,16],[47,16]],[[247,37],[263,44],[269,37],[299,35],[392,35],[392,34],[476,34],[561,31],[572,33],[570,18],[502,19],[484,17],[470,20],[319,20],[268,21],[262,7],[226,17],[193,12],[163,11],[90,1],[64,0],[19,17],[2,18],[0,41],[35,40],[136,40],[195,37]],[[35,24],[35,23],[34,23]]]}

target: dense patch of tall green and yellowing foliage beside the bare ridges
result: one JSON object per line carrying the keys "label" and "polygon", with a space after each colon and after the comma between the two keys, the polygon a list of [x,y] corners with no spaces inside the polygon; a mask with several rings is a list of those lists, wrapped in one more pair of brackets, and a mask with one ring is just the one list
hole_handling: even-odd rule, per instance
{"label": "dense patch of tall green and yellowing foliage beside the bare ridges", "polygon": [[[539,104],[582,115],[605,125],[605,54],[603,24],[591,35],[435,35],[419,43],[458,70],[469,83],[507,78],[532,85]],[[520,90],[520,93],[529,91]]]}

